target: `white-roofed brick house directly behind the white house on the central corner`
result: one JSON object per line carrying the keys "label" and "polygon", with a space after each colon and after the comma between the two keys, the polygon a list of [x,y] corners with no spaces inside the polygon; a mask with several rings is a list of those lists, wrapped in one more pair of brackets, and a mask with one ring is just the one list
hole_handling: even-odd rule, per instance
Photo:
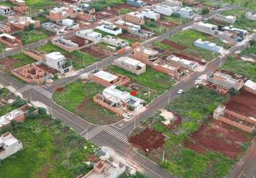
{"label": "white-roofed brick house directly behind the white house on the central corner", "polygon": [[108,70],[96,70],[92,73],[92,80],[100,85],[127,85],[130,79],[124,75],[119,75]]}

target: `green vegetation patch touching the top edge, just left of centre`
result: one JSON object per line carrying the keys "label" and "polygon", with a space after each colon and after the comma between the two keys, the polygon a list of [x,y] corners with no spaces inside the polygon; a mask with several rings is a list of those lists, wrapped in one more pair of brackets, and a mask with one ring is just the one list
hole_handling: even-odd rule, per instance
{"label": "green vegetation patch touching the top edge, just left of centre", "polygon": [[94,8],[96,11],[102,11],[104,8],[113,7],[118,4],[124,4],[126,1],[125,0],[98,0],[94,1],[93,3],[90,3],[92,8]]}

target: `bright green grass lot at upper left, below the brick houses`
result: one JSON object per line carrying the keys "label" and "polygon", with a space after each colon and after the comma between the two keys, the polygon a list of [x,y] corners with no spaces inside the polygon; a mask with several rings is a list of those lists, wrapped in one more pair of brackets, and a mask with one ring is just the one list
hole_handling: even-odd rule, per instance
{"label": "bright green grass lot at upper left, below the brick houses", "polygon": [[46,33],[44,33],[44,31],[36,29],[31,31],[20,31],[16,33],[15,36],[20,38],[24,45],[49,38],[49,36]]}

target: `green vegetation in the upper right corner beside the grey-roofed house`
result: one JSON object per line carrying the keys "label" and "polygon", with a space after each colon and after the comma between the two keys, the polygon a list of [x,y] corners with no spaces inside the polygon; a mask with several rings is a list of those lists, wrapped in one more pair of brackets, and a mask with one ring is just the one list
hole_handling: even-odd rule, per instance
{"label": "green vegetation in the upper right corner beside the grey-roofed house", "polygon": [[232,24],[232,26],[236,28],[242,28],[247,31],[253,31],[256,28],[256,21],[251,21],[249,19],[246,19],[245,17],[246,11],[241,11],[239,9],[231,9],[231,10],[222,12],[222,14],[225,16],[228,16],[228,15],[236,16],[237,21],[235,21],[235,23]]}

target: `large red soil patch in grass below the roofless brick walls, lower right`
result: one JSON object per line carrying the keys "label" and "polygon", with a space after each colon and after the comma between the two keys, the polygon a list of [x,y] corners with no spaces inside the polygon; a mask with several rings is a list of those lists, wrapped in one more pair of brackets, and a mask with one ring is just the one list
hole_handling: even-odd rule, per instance
{"label": "large red soil patch in grass below the roofless brick walls, lower right", "polygon": [[204,124],[192,133],[189,140],[184,140],[183,145],[201,154],[211,150],[236,159],[241,153],[240,143],[248,141],[250,140],[245,132],[230,130],[229,125],[213,120],[210,125]]}

